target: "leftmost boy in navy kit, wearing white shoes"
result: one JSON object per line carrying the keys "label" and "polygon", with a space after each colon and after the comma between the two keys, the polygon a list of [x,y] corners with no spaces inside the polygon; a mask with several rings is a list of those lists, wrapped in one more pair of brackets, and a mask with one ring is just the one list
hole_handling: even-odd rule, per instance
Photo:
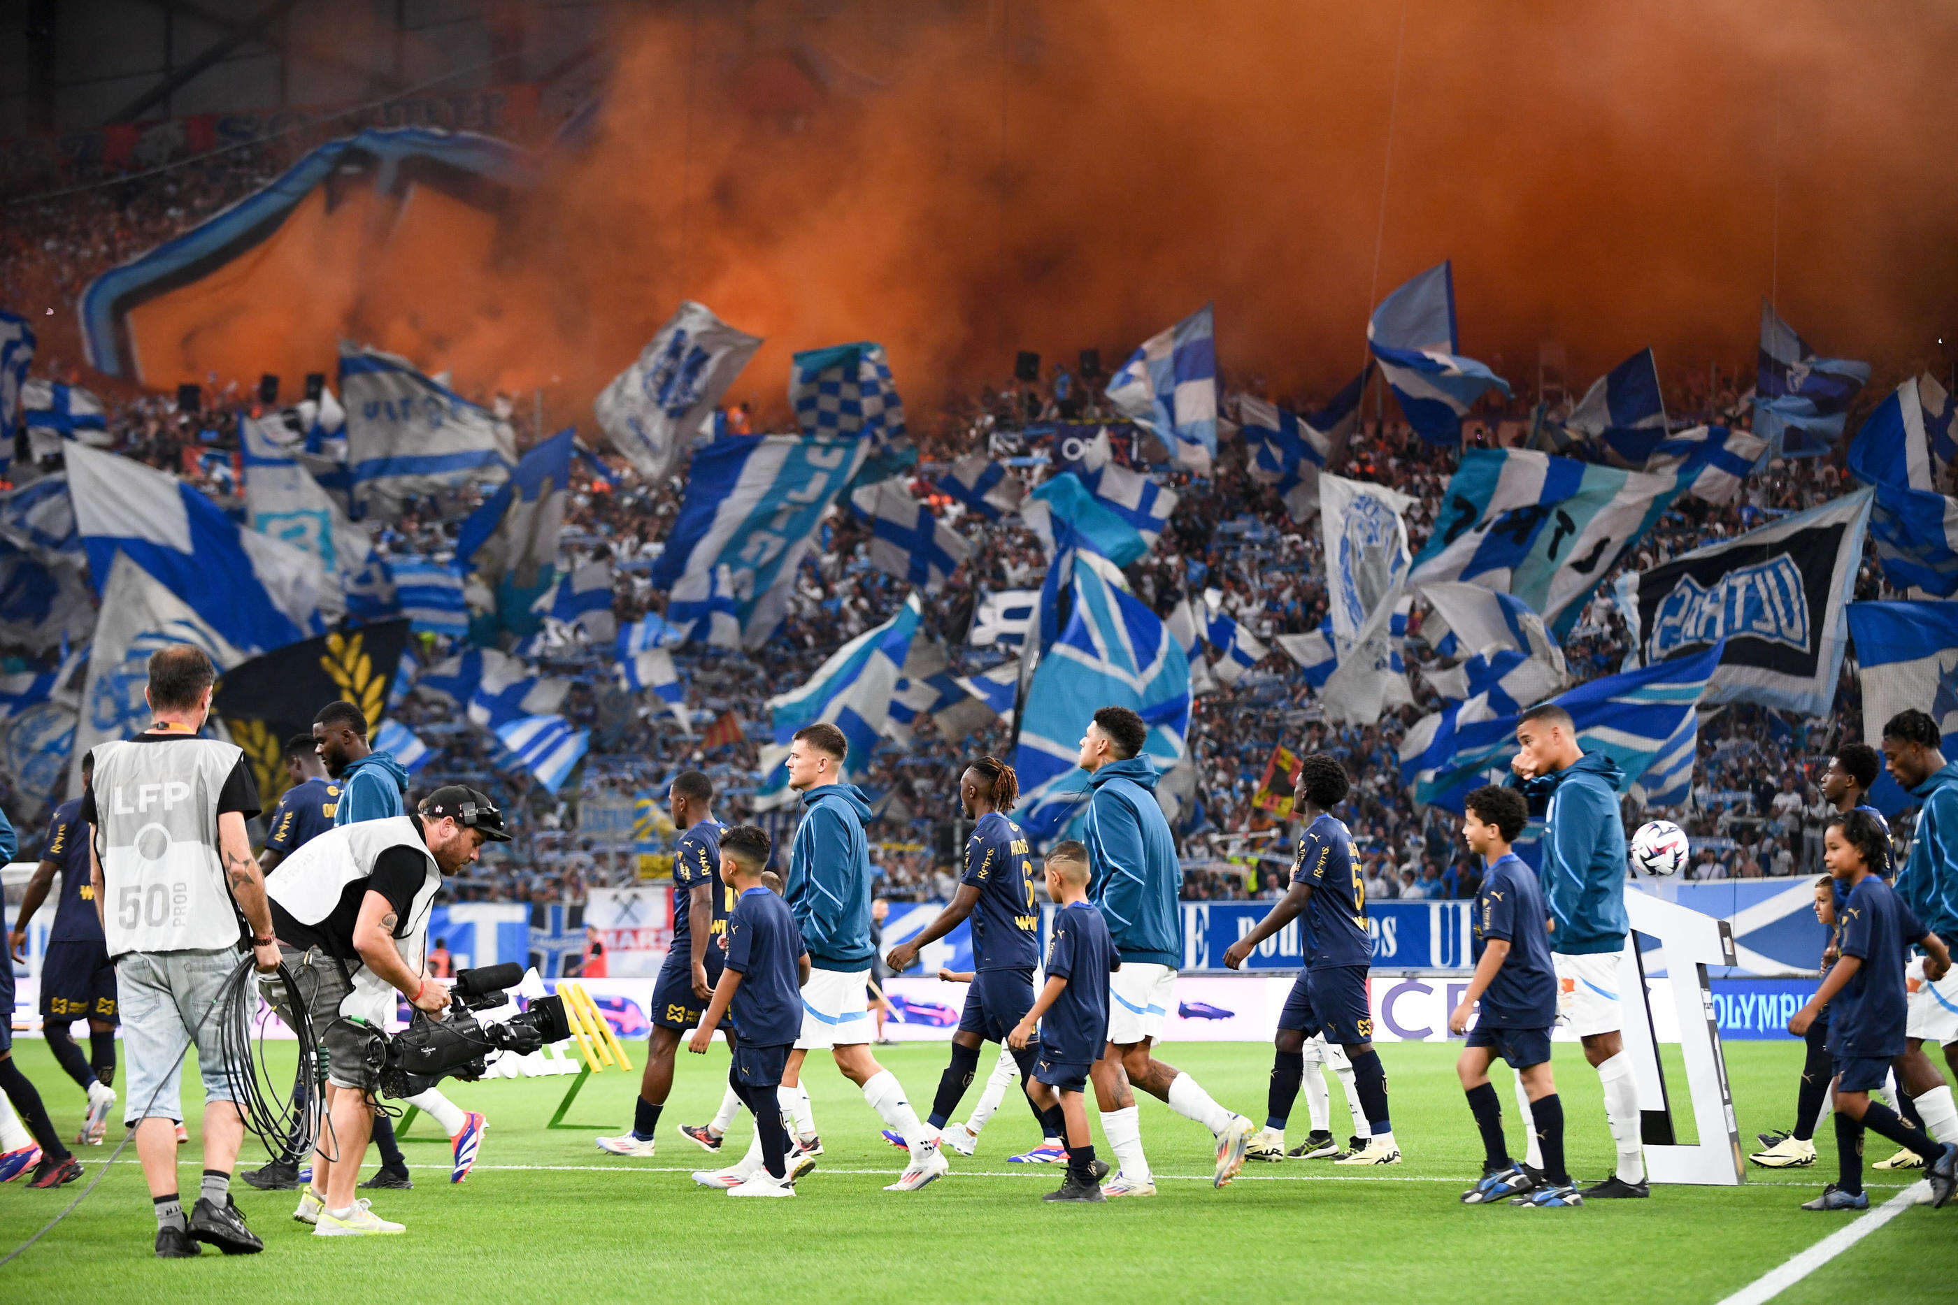
{"label": "leftmost boy in navy kit, wearing white shoes", "polygon": [[728,951],[715,984],[715,998],[701,1015],[687,1051],[707,1055],[715,1025],[734,1010],[740,1039],[728,1064],[728,1088],[754,1111],[762,1139],[762,1168],[728,1195],[795,1195],[795,1180],[816,1168],[809,1156],[789,1166],[789,1129],[781,1119],[775,1088],[789,1064],[789,1047],[803,1027],[803,984],[809,982],[809,951],[795,927],[789,904],[762,886],[768,865],[768,833],[754,826],[734,826],[721,835],[721,873],[738,894],[728,916]]}

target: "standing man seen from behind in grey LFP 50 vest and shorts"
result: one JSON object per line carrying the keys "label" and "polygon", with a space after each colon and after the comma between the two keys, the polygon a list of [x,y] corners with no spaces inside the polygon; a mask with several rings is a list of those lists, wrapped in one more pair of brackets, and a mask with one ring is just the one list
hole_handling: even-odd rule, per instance
{"label": "standing man seen from behind in grey LFP 50 vest and shorts", "polygon": [[[202,648],[151,653],[145,697],[155,722],[133,740],[94,747],[80,808],[96,830],[90,882],[129,1055],[123,1121],[135,1127],[163,1260],[200,1254],[198,1242],[225,1254],[264,1248],[231,1203],[231,1168],[245,1139],[231,1082],[245,1066],[227,1060],[213,1008],[243,955],[239,910],[260,972],[278,968],[278,951],[245,833],[258,814],[258,783],[243,749],[198,738],[215,681]],[[190,1043],[204,1078],[204,1184],[186,1221],[174,1121],[184,1117],[178,1070]]]}

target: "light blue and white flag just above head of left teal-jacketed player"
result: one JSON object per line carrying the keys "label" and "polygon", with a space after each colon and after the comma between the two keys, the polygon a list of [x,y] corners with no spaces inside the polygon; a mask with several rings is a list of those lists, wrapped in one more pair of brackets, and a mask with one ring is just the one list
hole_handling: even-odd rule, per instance
{"label": "light blue and white flag just above head of left teal-jacketed player", "polygon": [[840,783],[867,771],[877,736],[891,716],[891,695],[903,679],[922,612],[918,593],[912,591],[889,620],[830,653],[801,689],[768,700],[773,743],[762,749],[762,787],[750,802],[754,810],[773,810],[795,798],[785,761],[789,743],[803,726],[826,720],[850,740],[850,753],[838,771]]}

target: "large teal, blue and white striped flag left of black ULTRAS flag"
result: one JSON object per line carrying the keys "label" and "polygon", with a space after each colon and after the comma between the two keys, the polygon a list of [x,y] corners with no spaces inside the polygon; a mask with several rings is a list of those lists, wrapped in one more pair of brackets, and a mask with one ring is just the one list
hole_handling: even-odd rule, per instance
{"label": "large teal, blue and white striped flag left of black ULTRAS flag", "polygon": [[1678,475],[1521,448],[1470,448],[1449,479],[1410,579],[1506,589],[1564,640],[1592,591],[1680,491]]}

